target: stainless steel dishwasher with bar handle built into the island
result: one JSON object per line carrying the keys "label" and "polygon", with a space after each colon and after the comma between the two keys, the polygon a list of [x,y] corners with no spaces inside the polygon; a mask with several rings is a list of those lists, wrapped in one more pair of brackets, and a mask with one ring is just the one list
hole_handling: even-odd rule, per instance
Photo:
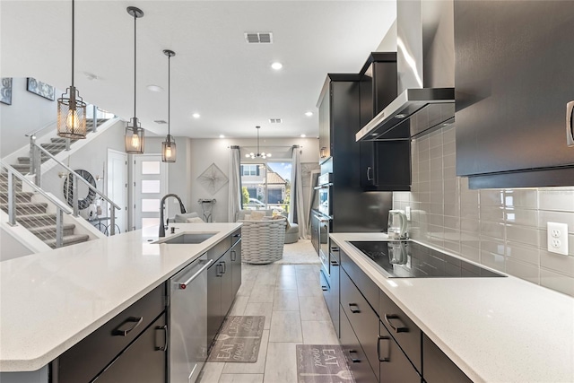
{"label": "stainless steel dishwasher with bar handle built into the island", "polygon": [[195,382],[207,359],[206,255],[170,279],[170,383]]}

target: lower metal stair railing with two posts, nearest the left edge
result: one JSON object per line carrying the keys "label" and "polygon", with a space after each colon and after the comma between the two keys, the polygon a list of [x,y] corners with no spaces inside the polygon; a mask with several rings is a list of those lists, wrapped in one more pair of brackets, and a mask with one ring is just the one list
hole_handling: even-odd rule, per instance
{"label": "lower metal stair railing with two posts, nearest the left edge", "polygon": [[51,202],[56,207],[56,247],[61,248],[64,244],[64,214],[71,214],[73,213],[72,209],[69,206],[64,205],[62,201],[58,200],[54,196],[50,196],[40,187],[34,185],[30,179],[24,177],[22,173],[18,170],[13,169],[12,166],[5,163],[3,160],[0,159],[0,163],[2,166],[7,170],[7,177],[8,177],[8,224],[10,226],[16,226],[16,187],[14,178],[18,178],[22,180],[23,183],[28,185],[34,192],[39,193],[39,195],[44,196],[49,202]]}

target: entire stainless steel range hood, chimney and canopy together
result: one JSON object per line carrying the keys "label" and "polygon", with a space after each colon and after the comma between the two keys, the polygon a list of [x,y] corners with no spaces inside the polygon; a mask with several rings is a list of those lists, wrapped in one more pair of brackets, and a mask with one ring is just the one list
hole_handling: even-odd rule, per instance
{"label": "entire stainless steel range hood, chimney and canopy together", "polygon": [[445,0],[396,4],[400,94],[355,135],[356,141],[410,139],[454,122],[454,8]]}

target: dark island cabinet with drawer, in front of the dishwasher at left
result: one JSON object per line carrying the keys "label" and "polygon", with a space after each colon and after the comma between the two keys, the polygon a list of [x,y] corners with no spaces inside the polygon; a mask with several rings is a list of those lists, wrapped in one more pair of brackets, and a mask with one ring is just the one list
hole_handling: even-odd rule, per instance
{"label": "dark island cabinet with drawer, in front of the dishwasher at left", "polygon": [[[161,284],[52,361],[51,383],[165,381],[165,295]],[[128,379],[123,372],[138,369],[141,361],[147,361],[145,376],[154,379]]]}

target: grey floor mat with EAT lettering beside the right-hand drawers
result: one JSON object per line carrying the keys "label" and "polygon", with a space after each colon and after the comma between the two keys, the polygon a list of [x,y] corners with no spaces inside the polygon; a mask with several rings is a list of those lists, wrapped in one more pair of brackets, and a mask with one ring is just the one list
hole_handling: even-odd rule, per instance
{"label": "grey floor mat with EAT lettering beside the right-hand drawers", "polygon": [[299,383],[354,382],[343,348],[333,344],[297,344]]}

